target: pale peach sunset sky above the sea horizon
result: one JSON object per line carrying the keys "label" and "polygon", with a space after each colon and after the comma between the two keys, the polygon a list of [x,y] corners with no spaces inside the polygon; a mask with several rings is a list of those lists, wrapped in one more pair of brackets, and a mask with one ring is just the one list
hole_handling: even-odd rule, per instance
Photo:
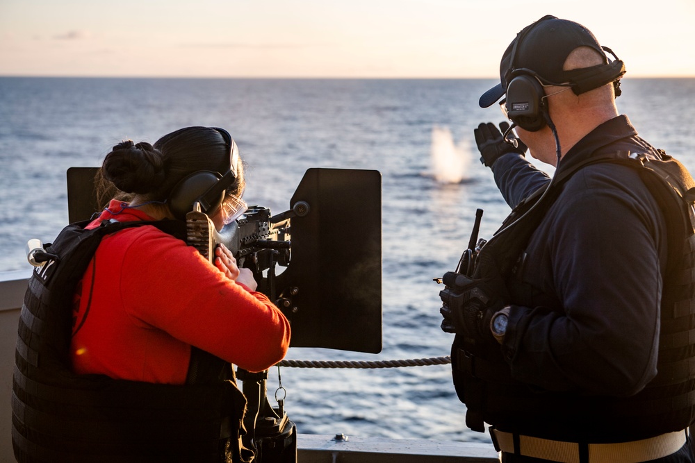
{"label": "pale peach sunset sky above the sea horizon", "polygon": [[695,0],[0,0],[0,76],[489,78],[546,14],[695,77]]}

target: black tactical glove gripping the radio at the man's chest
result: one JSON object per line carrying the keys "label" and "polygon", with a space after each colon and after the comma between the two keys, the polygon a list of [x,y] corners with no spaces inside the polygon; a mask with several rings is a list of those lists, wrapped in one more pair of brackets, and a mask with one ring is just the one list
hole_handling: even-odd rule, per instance
{"label": "black tactical glove gripping the radio at the man's chest", "polygon": [[468,342],[495,341],[490,321],[505,307],[507,289],[501,278],[473,280],[455,272],[443,276],[445,289],[439,292],[443,305],[439,312],[444,318],[441,329],[463,335]]}

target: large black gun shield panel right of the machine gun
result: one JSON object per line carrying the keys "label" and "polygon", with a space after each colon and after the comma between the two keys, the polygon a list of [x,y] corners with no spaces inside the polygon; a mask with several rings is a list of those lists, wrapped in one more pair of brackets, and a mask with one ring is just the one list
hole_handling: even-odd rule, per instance
{"label": "large black gun shield panel right of the machine gun", "polygon": [[309,169],[290,201],[292,257],[277,276],[291,346],[382,350],[382,184],[374,170]]}

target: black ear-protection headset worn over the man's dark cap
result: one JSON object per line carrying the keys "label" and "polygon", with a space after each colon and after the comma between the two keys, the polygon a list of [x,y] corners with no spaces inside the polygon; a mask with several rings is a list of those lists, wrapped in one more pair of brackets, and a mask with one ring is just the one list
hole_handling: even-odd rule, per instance
{"label": "black ear-protection headset worn over the man's dark cap", "polygon": [[615,94],[619,96],[621,91],[618,78],[625,74],[625,65],[615,56],[615,53],[607,47],[601,48],[610,53],[613,58],[615,58],[614,61],[608,62],[605,65],[566,71],[566,74],[571,76],[569,82],[554,83],[542,78],[536,72],[532,71],[532,69],[517,69],[516,53],[518,45],[537,24],[545,19],[552,19],[552,17],[541,18],[528,28],[528,30],[523,31],[514,42],[514,49],[512,49],[512,67],[507,78],[505,78],[507,81],[507,97],[503,103],[507,105],[507,116],[516,126],[529,132],[541,130],[541,128],[548,124],[548,119],[550,118],[543,84],[571,87],[573,92],[579,95],[584,92],[589,92],[589,90],[594,90],[601,85],[613,82]]}

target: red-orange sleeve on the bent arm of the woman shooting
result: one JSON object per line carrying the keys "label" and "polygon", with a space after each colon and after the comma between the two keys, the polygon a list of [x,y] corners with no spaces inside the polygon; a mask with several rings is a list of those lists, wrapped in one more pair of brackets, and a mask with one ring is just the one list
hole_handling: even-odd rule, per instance
{"label": "red-orange sleeve on the bent arm of the woman shooting", "polygon": [[[136,239],[125,237],[136,233]],[[192,247],[151,226],[124,239],[120,287],[136,323],[248,371],[272,367],[287,353],[290,325],[268,298],[229,280]]]}

